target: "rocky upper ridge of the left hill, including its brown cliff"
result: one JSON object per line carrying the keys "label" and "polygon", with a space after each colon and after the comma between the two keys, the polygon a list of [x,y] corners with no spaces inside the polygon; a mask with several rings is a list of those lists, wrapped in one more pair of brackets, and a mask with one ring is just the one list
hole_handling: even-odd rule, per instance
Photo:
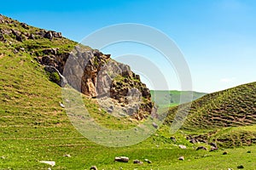
{"label": "rocky upper ridge of the left hill, including its brown cliff", "polygon": [[[47,76],[60,86],[71,85],[109,112],[124,111],[137,120],[154,112],[151,95],[129,65],[99,50],[0,15],[1,56],[31,55],[44,66]],[[11,52],[11,54],[10,54]],[[67,65],[71,62],[71,65]],[[67,65],[67,66],[66,66]]]}

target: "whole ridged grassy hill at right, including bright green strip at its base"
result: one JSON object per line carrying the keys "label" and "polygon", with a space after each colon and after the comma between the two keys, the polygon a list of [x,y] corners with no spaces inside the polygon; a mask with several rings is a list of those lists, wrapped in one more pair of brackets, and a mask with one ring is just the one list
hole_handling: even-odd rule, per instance
{"label": "whole ridged grassy hill at right, including bright green strip at its base", "polygon": [[[195,139],[216,142],[224,147],[256,143],[256,82],[207,94],[192,102],[183,130]],[[180,111],[186,111],[187,104]],[[166,124],[177,113],[172,107]]]}

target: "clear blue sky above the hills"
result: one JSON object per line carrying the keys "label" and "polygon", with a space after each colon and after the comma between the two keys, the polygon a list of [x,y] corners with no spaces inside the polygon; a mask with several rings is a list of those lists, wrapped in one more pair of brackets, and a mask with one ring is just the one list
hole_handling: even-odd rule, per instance
{"label": "clear blue sky above the hills", "polygon": [[[255,9],[254,0],[44,0],[4,1],[0,13],[32,26],[61,31],[77,42],[114,24],[152,26],[165,32],[183,52],[193,89],[210,93],[255,82]],[[115,47],[106,52],[114,57],[121,50]],[[168,81],[172,89],[179,89],[177,80]]]}

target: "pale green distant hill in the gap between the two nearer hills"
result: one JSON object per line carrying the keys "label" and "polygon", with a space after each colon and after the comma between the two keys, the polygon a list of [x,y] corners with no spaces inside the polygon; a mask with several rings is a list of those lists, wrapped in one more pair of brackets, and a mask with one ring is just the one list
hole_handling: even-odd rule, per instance
{"label": "pale green distant hill in the gap between the two nearer hills", "polygon": [[[183,102],[180,101],[181,96],[188,96],[190,94],[193,94],[193,100],[199,99],[202,96],[206,95],[206,93],[200,93],[200,92],[190,92],[190,91],[177,91],[177,90],[170,90],[170,91],[165,91],[165,90],[151,90],[151,95],[152,98],[154,99],[154,95],[157,95],[157,101],[160,104],[163,103],[169,103],[169,105],[166,106],[175,106],[175,105],[180,105],[183,103],[190,102],[190,98],[185,98],[183,99]],[[168,101],[166,101],[168,100]]]}

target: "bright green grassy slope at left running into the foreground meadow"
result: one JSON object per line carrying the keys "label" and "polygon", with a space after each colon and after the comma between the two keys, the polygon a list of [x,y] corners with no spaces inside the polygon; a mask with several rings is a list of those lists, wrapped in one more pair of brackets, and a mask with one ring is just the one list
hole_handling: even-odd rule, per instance
{"label": "bright green grassy slope at left running into the foreground meadow", "polygon": [[[42,39],[47,48],[63,48],[65,41]],[[26,43],[42,45],[39,41],[15,42],[14,46],[23,47]],[[177,139],[173,142],[166,126],[143,143],[131,147],[108,148],[94,144],[69,122],[59,105],[61,88],[49,82],[43,67],[33,56],[26,52],[14,54],[14,46],[7,47],[2,42],[0,45],[3,54],[0,57],[0,156],[4,157],[0,158],[0,169],[47,169],[48,165],[38,162],[42,160],[56,161],[52,169],[89,169],[92,165],[99,169],[235,169],[240,164],[247,169],[255,167],[256,152],[246,153],[256,150],[255,146],[228,150],[227,156],[222,156],[223,150],[195,151],[199,144],[189,144],[182,132],[173,135]],[[84,104],[96,121],[107,127],[124,128],[128,123],[99,111],[96,102],[85,97]],[[188,150],[178,149],[175,144],[185,144]],[[72,157],[63,157],[65,154]],[[114,156],[129,156],[131,160],[147,158],[152,164],[114,162]],[[178,161],[178,156],[185,156],[185,161]]]}

